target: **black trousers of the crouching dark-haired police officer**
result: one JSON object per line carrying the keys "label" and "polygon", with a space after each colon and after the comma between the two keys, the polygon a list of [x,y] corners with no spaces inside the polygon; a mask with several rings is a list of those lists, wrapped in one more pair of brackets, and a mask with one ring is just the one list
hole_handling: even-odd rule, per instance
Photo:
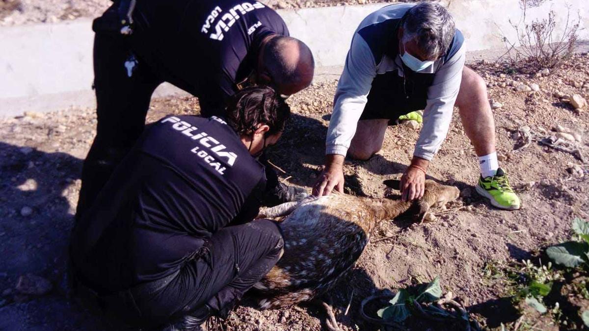
{"label": "black trousers of the crouching dark-haired police officer", "polygon": [[[217,231],[170,276],[117,293],[97,294],[76,282],[81,303],[107,317],[116,329],[190,329],[190,317],[226,317],[243,294],[278,262],[282,234],[270,220]],[[186,324],[185,324],[186,323]]]}

